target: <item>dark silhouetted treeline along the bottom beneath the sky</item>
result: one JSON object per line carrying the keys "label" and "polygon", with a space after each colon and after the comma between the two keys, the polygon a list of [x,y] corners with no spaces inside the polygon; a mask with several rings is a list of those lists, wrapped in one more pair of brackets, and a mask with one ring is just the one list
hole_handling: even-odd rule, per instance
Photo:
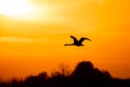
{"label": "dark silhouetted treeline along the bottom beneath the sky", "polygon": [[63,66],[51,76],[42,72],[25,79],[1,80],[0,87],[130,87],[130,79],[114,78],[107,71],[100,71],[91,62],[82,61],[72,73]]}

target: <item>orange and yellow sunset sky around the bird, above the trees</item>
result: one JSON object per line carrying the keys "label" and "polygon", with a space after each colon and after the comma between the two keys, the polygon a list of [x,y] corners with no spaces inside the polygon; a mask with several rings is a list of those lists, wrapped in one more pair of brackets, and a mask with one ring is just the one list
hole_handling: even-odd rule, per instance
{"label": "orange and yellow sunset sky around the bird, above the trees", "polygon": [[[0,0],[0,78],[91,61],[130,77],[129,0]],[[91,38],[64,47],[70,35]]]}

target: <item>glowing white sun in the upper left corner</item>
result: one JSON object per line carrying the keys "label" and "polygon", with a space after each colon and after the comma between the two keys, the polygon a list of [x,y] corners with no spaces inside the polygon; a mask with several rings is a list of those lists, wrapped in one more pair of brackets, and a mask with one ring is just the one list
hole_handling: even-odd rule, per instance
{"label": "glowing white sun in the upper left corner", "polygon": [[27,0],[0,0],[0,14],[8,16],[28,14],[32,8]]}

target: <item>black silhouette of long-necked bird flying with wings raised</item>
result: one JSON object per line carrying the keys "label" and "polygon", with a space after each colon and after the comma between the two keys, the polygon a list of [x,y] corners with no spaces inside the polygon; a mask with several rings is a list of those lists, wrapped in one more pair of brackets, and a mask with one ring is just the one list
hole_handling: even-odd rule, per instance
{"label": "black silhouette of long-necked bird flying with wings raised", "polygon": [[74,36],[70,36],[70,38],[73,38],[74,44],[65,44],[64,46],[77,46],[77,47],[79,47],[79,46],[83,46],[83,45],[82,45],[82,41],[83,41],[83,40],[89,40],[89,41],[91,41],[91,39],[86,38],[86,37],[81,37],[79,40],[78,40],[76,37],[74,37]]}

